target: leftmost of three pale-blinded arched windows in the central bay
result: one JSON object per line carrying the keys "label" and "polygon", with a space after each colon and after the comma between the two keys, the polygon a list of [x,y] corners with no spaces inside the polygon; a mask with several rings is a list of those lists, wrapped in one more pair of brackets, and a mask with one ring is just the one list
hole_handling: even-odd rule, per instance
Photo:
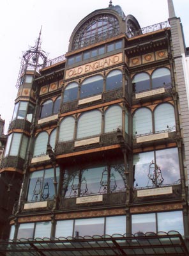
{"label": "leftmost of three pale-blinded arched windows in the central bay", "polygon": [[64,118],[59,128],[59,141],[73,140],[74,127],[75,119],[72,116]]}

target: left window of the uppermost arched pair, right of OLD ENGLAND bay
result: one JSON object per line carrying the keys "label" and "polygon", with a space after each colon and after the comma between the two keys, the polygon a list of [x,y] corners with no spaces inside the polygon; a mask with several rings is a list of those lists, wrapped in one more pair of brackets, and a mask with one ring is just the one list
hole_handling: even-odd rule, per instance
{"label": "left window of the uppermost arched pair, right of OLD ENGLAND bay", "polygon": [[150,89],[150,77],[149,74],[142,72],[136,74],[132,80],[133,92],[142,92]]}

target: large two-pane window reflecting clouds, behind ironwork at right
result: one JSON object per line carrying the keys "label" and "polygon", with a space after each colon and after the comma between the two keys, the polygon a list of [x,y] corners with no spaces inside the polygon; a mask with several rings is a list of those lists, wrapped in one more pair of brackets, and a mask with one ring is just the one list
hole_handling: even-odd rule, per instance
{"label": "large two-pane window reflecting clouds, behind ironwork at right", "polygon": [[[154,165],[150,165],[152,162],[156,164],[158,169],[155,169]],[[157,183],[163,178],[162,185],[178,183],[180,179],[178,148],[166,148],[156,150],[156,152],[135,154],[133,156],[133,166],[135,186],[139,188],[155,186],[153,183],[155,177]]]}

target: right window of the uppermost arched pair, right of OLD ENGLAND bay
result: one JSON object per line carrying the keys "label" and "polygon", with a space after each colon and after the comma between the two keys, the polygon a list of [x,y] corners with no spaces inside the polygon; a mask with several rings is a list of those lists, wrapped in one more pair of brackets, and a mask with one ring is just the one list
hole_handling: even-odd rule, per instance
{"label": "right window of the uppermost arched pair, right of OLD ENGLAND bay", "polygon": [[157,88],[171,83],[170,70],[168,68],[157,68],[152,76],[152,87]]}

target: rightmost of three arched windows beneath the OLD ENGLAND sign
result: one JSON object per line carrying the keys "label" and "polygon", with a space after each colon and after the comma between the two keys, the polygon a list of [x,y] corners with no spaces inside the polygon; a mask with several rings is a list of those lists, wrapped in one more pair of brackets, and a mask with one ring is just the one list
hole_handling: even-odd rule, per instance
{"label": "rightmost of three arched windows beneath the OLD ENGLAND sign", "polygon": [[106,90],[114,90],[116,88],[122,87],[123,76],[120,70],[111,71],[106,79]]}

